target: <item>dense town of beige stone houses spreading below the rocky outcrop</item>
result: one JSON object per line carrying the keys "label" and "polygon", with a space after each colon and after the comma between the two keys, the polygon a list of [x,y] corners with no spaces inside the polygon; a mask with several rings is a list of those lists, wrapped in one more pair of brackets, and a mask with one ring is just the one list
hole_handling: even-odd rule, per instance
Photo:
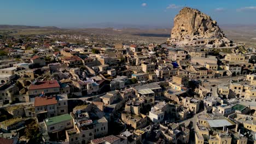
{"label": "dense town of beige stone houses spreading below the rocky outcrop", "polygon": [[0,35],[0,143],[255,144],[256,52],[219,33],[162,44]]}

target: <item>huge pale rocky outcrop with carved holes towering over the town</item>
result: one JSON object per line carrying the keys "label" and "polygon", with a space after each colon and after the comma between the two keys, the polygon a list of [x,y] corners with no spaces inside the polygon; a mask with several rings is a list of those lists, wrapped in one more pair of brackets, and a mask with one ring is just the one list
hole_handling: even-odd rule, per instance
{"label": "huge pale rocky outcrop with carved holes towering over the town", "polygon": [[183,8],[174,17],[174,26],[168,42],[177,46],[234,46],[216,21],[201,11],[188,7]]}

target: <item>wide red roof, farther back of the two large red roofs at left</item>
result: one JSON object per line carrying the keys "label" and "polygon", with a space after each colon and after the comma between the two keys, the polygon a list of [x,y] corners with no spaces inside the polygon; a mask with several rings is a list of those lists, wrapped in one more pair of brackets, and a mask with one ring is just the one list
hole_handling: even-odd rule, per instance
{"label": "wide red roof, farther back of the two large red roofs at left", "polygon": [[40,82],[36,82],[35,84],[31,84],[28,87],[28,90],[54,88],[54,87],[60,87],[59,83],[56,80],[40,81]]}

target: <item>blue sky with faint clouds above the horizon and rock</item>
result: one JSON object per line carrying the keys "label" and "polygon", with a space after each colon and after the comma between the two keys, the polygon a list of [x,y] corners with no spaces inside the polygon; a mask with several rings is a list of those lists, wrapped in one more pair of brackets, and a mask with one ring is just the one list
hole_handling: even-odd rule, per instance
{"label": "blue sky with faint clouds above the horizon and rock", "polygon": [[0,25],[171,27],[185,6],[210,15],[219,25],[256,25],[256,0],[0,0]]}

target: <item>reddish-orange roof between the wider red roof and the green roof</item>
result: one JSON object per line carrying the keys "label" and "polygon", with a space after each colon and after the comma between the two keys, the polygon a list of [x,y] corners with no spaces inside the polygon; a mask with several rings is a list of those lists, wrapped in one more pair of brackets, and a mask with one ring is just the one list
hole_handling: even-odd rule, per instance
{"label": "reddish-orange roof between the wider red roof and the green roof", "polygon": [[34,106],[54,105],[57,104],[55,97],[36,97],[34,98]]}

